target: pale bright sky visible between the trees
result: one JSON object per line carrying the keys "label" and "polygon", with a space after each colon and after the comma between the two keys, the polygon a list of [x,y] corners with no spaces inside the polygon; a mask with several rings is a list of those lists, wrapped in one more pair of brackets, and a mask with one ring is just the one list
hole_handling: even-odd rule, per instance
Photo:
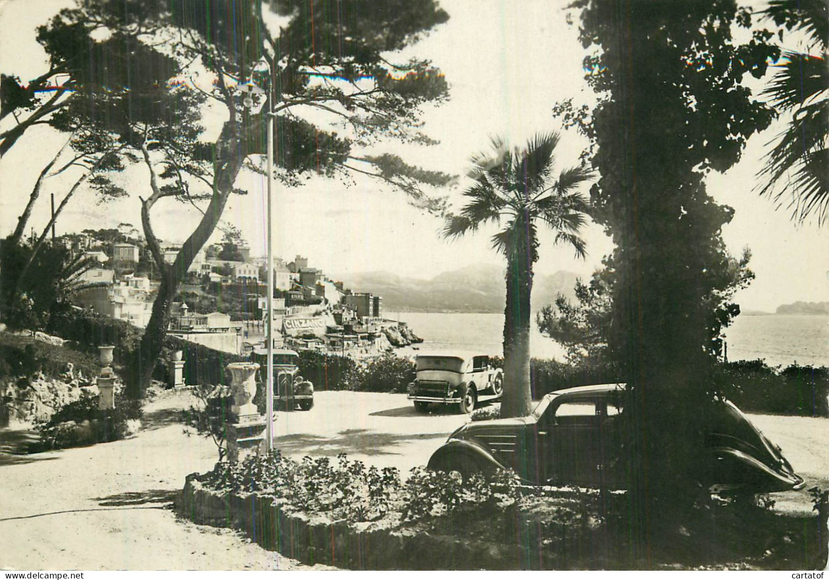
{"label": "pale bright sky visible between the trees", "polygon": [[[34,29],[67,3],[0,0],[0,70],[23,79],[39,74],[46,58],[36,44]],[[463,176],[470,155],[485,150],[494,135],[521,144],[536,132],[557,130],[550,112],[557,100],[592,99],[584,84],[584,51],[577,29],[566,22],[563,7],[567,3],[442,0],[449,21],[402,55],[429,58],[446,75],[450,100],[424,112],[424,132],[440,143],[434,147],[391,143],[387,150],[423,167]],[[4,120],[4,128],[8,122]],[[723,230],[731,253],[739,254],[746,246],[753,253],[751,268],[757,278],[736,297],[749,310],[773,312],[782,303],[829,301],[829,231],[819,230],[814,223],[794,225],[787,210],[775,210],[771,201],[753,191],[764,145],[780,128],[778,124],[755,135],[743,161],[725,174],[708,177],[710,195],[736,210],[734,220]],[[2,235],[13,230],[38,172],[64,143],[48,128],[30,133],[0,160]],[[563,133],[558,167],[574,165],[584,144],[578,135]],[[138,167],[125,179],[131,196],[117,203],[99,205],[90,191],[79,192],[58,220],[57,233],[122,222],[140,225],[138,196],[147,195],[148,174]],[[63,181],[61,176],[47,181],[34,215],[35,227],[42,228],[48,219],[48,193],[55,191],[60,200],[68,183],[68,176]],[[223,222],[240,228],[254,254],[264,254],[264,179],[240,175],[236,185],[249,193],[230,200]],[[442,239],[441,220],[370,178],[358,176],[343,183],[314,177],[300,187],[274,185],[275,253],[285,259],[302,254],[312,265],[344,278],[348,273],[376,270],[433,278],[476,263],[501,263],[490,249],[492,230]],[[460,201],[465,185],[468,182],[462,177],[446,192],[451,201]],[[159,202],[154,211],[158,236],[175,242],[181,242],[199,218],[196,210],[174,201]],[[597,225],[590,225],[584,237],[589,255],[579,260],[572,249],[555,247],[553,235],[542,232],[536,273],[564,269],[588,278],[613,245]]]}

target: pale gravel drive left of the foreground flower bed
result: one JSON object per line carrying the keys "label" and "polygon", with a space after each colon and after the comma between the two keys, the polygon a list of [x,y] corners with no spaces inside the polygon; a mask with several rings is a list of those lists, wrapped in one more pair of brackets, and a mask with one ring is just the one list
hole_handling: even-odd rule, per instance
{"label": "pale gravel drive left of the foreground flower bed", "polygon": [[[308,567],[229,529],[177,519],[172,500],[216,447],[174,423],[187,397],[146,408],[137,437],[31,456],[0,452],[0,568],[275,570]],[[25,433],[0,431],[0,447]],[[6,445],[3,445],[6,443]]]}

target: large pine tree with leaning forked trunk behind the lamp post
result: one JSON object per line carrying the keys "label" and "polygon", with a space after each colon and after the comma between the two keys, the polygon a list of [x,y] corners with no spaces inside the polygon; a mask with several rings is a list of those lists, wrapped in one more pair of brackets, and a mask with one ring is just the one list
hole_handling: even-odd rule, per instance
{"label": "large pine tree with leaning forked trunk behind the lamp post", "polygon": [[[357,0],[337,0],[336,6],[325,1],[269,2],[267,9],[285,17],[284,25],[271,31],[266,22],[274,15],[263,14],[263,6],[255,0],[143,0],[139,9],[135,0],[95,0],[61,11],[39,30],[51,62],[71,70],[94,105],[70,101],[55,114],[53,124],[79,127],[86,135],[118,143],[122,155],[111,163],[114,171],[141,162],[148,170],[152,195],[142,199],[142,226],[161,284],[135,370],[127,376],[128,392],[135,397],[143,394],[152,361],[162,350],[172,299],[184,273],[210,238],[229,196],[242,192],[234,183],[243,167],[263,172],[249,157],[263,155],[269,138],[279,140],[276,176],[292,186],[306,172],[360,172],[405,191],[415,205],[431,208],[434,198],[421,186],[442,186],[449,179],[406,166],[394,156],[357,152],[385,138],[429,141],[418,131],[421,109],[444,100],[448,85],[428,61],[391,61],[445,22],[446,12],[433,0],[384,0],[370,11]],[[84,42],[86,36],[106,40]],[[79,54],[95,57],[87,59],[92,65]],[[263,60],[269,69],[264,74],[259,69]],[[112,86],[96,84],[102,67],[111,69]],[[152,75],[135,78],[147,68]],[[199,69],[206,69],[215,82],[206,88],[198,85],[192,75]],[[186,77],[196,90],[180,81]],[[247,81],[266,85],[250,109],[251,99],[237,88]],[[201,114],[209,99],[227,114],[214,143],[203,141]],[[331,122],[308,114],[313,109],[324,111]],[[265,123],[269,111],[275,114],[271,136],[266,130],[270,123]],[[385,172],[395,164],[400,178]],[[92,183],[107,195],[125,193],[106,176]],[[201,222],[172,264],[162,259],[150,219],[153,206],[167,198],[207,202],[200,208]]]}

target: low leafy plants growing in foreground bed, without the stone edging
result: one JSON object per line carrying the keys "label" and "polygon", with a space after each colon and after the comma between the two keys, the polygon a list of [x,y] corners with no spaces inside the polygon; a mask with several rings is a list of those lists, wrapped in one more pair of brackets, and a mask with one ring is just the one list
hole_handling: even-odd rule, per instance
{"label": "low leafy plants growing in foreground bed, without the stone edging", "polygon": [[[652,552],[639,557],[631,551],[628,495],[521,486],[512,471],[473,476],[463,484],[456,474],[415,468],[401,481],[396,470],[366,467],[344,455],[337,462],[328,457],[294,461],[277,451],[218,463],[196,480],[207,489],[242,496],[231,505],[250,506],[244,499],[251,493],[274,497],[288,513],[346,523],[376,521],[406,535],[429,534],[430,544],[435,538],[473,548],[479,542],[484,550],[506,548],[502,558],[516,546],[519,560],[507,567],[519,568],[696,569],[749,563],[752,569],[797,569],[812,559],[817,563],[829,513],[827,500],[817,501],[817,492],[812,495],[820,518],[710,502],[681,525],[660,518]],[[712,537],[717,539],[713,544]]]}

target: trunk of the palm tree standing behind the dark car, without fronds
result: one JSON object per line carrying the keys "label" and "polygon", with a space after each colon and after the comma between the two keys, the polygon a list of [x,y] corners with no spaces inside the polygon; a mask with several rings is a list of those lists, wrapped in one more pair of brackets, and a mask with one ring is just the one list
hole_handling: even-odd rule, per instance
{"label": "trunk of the palm tree standing behind the dark car, without fronds", "polygon": [[504,394],[501,416],[523,417],[532,410],[530,384],[530,294],[532,268],[525,253],[507,259],[504,308]]}

